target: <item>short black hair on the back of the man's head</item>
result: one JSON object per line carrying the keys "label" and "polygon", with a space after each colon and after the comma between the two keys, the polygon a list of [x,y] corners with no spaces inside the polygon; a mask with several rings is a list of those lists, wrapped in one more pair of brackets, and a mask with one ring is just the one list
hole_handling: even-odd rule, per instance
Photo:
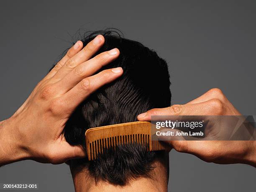
{"label": "short black hair on the back of the man's head", "polygon": [[[141,43],[122,38],[115,31],[97,31],[84,36],[84,46],[102,34],[105,44],[97,54],[113,48],[120,50],[118,59],[100,69],[122,67],[123,75],[90,95],[69,118],[65,138],[72,145],[85,147],[87,129],[137,120],[137,115],[151,108],[170,106],[169,72],[166,61]],[[145,146],[129,144],[109,150],[100,159],[70,160],[71,169],[87,169],[95,181],[125,185],[133,179],[150,177],[154,163],[163,151],[147,152]]]}

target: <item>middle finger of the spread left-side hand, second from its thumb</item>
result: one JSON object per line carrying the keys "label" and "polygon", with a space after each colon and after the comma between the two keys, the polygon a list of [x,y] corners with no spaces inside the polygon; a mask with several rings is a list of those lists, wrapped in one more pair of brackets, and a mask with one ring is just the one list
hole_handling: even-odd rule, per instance
{"label": "middle finger of the spread left-side hand, second from its thumb", "polygon": [[119,56],[118,49],[112,49],[110,51],[105,51],[94,58],[80,64],[72,72],[67,74],[63,79],[56,83],[57,87],[61,87],[59,92],[61,94],[69,91],[75,85],[77,85],[82,79],[90,77],[100,68],[109,64],[111,61]]}

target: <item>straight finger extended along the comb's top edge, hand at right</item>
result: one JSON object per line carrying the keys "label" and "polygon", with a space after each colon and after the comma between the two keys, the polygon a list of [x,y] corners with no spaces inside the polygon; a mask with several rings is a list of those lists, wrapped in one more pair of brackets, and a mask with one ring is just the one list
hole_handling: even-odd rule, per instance
{"label": "straight finger extended along the comb's top edge, hand at right", "polygon": [[222,112],[222,102],[218,99],[212,99],[195,104],[172,105],[168,108],[151,109],[138,115],[138,120],[150,121],[151,115],[221,115]]}

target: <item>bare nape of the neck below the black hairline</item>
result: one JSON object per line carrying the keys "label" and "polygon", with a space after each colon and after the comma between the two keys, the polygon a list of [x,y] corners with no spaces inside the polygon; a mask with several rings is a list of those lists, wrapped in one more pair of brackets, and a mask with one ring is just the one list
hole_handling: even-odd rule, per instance
{"label": "bare nape of the neck below the black hairline", "polygon": [[[168,168],[167,168],[168,169]],[[87,168],[71,169],[76,192],[167,192],[168,172],[166,166],[155,163],[154,170],[150,173],[150,178],[139,178],[132,180],[125,186],[116,186],[108,182],[95,182],[90,177]]]}

